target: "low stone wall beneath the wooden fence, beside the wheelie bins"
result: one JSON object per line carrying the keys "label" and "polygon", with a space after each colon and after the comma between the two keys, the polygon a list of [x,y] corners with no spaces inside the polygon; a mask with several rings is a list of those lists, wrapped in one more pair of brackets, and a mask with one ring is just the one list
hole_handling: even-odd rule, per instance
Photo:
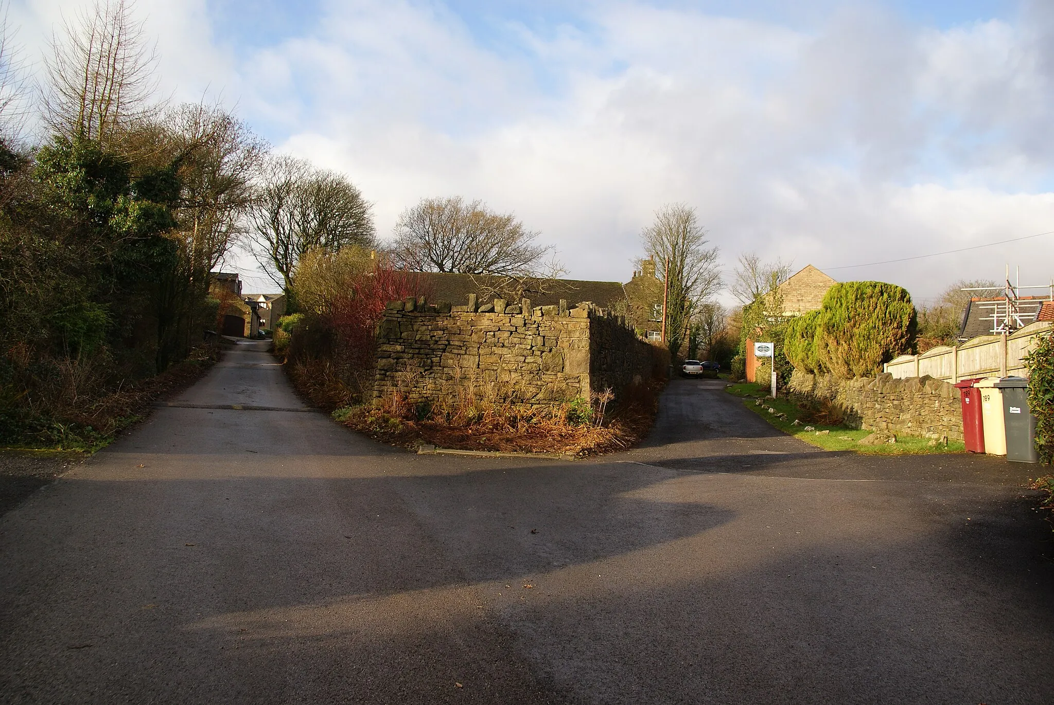
{"label": "low stone wall beneath the wooden fence, beside the wheelie bins", "polygon": [[836,404],[856,428],[924,438],[962,440],[962,406],[959,390],[930,376],[839,379],[794,371],[792,393]]}

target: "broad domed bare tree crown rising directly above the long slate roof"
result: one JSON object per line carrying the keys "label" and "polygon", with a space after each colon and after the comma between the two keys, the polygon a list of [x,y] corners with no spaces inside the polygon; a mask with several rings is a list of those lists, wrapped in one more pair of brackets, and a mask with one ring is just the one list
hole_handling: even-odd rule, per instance
{"label": "broad domed bare tree crown rising directly above the long slate roof", "polygon": [[512,214],[494,213],[479,200],[425,198],[399,216],[391,255],[397,267],[415,272],[546,278],[546,267],[562,268],[543,261],[553,249],[536,238]]}

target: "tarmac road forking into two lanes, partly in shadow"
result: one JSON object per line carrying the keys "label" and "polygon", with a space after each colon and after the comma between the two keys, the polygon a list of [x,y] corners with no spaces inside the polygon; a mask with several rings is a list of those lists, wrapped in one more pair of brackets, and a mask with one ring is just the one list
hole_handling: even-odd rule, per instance
{"label": "tarmac road forking into two lanes, partly in shadow", "polygon": [[0,700],[1054,702],[1034,466],[821,452],[721,387],[628,453],[418,456],[240,345],[0,518]]}

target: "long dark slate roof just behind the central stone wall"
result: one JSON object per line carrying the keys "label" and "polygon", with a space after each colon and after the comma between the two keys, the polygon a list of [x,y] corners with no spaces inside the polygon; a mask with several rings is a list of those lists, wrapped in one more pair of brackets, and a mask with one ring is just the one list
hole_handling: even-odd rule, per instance
{"label": "long dark slate roof just behind the central stone wall", "polygon": [[[475,294],[481,303],[502,298],[519,301],[529,298],[531,306],[558,306],[566,299],[571,306],[579,301],[592,301],[602,308],[626,300],[626,293],[619,281],[586,281],[582,279],[543,279],[528,281],[523,295],[516,291],[516,282],[508,277],[480,274],[451,274],[447,272],[416,272],[419,290],[431,302],[450,301],[453,306],[464,306],[468,295]],[[502,296],[495,295],[500,290]]]}

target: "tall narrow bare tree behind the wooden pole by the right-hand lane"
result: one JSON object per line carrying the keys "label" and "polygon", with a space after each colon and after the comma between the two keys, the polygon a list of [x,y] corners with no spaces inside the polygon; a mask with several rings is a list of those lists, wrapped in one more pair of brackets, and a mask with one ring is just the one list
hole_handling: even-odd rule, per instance
{"label": "tall narrow bare tree behind the wooden pole by the right-hand lane", "polygon": [[706,247],[706,231],[699,224],[696,210],[685,203],[669,203],[657,211],[655,222],[644,229],[641,239],[668,285],[666,342],[677,355],[692,318],[721,286],[719,250]]}

